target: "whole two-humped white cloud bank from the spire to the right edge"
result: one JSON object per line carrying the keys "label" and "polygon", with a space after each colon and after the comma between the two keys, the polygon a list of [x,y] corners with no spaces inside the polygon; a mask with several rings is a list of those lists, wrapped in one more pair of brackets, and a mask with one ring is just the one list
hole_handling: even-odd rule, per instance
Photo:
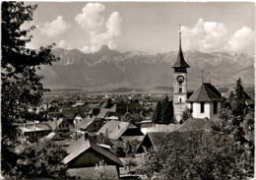
{"label": "whole two-humped white cloud bank from the spire to the right edge", "polygon": [[181,31],[184,50],[237,53],[253,51],[253,30],[246,27],[228,36],[224,24],[199,19],[194,27],[181,27]]}

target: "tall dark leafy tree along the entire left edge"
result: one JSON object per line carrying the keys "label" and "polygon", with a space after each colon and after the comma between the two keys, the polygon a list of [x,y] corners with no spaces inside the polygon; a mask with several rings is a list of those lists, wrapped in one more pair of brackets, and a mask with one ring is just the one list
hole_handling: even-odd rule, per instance
{"label": "tall dark leafy tree along the entire left edge", "polygon": [[[34,116],[28,116],[30,107],[35,107],[44,91],[41,76],[37,75],[41,65],[57,61],[51,53],[52,45],[32,50],[26,47],[31,41],[32,26],[23,30],[22,25],[32,21],[34,6],[23,2],[2,3],[2,61],[1,61],[1,123],[2,123],[2,173],[8,174],[16,165],[18,154],[17,123],[23,123]],[[39,116],[36,116],[39,118]],[[32,119],[34,120],[34,119]],[[39,120],[39,119],[37,119]]]}

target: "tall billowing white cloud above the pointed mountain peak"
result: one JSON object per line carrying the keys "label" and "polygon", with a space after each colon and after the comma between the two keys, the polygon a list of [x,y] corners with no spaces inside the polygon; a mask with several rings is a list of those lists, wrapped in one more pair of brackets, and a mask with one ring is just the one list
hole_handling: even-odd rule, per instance
{"label": "tall billowing white cloud above the pointed mountain peak", "polygon": [[115,49],[115,38],[121,35],[122,18],[118,12],[113,12],[107,20],[101,16],[105,10],[100,3],[88,3],[82,13],[75,17],[78,25],[89,33],[90,45],[84,46],[84,52],[94,52],[101,45],[106,44],[110,49]]}

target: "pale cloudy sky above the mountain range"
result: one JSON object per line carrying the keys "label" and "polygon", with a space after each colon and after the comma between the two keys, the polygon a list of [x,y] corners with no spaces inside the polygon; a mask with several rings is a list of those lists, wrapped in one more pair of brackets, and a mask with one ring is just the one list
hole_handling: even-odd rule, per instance
{"label": "pale cloudy sky above the mountain range", "polygon": [[[27,2],[27,4],[34,4]],[[254,4],[243,2],[36,2],[31,48],[95,52],[102,44],[119,51],[162,53],[178,48],[252,53]]]}

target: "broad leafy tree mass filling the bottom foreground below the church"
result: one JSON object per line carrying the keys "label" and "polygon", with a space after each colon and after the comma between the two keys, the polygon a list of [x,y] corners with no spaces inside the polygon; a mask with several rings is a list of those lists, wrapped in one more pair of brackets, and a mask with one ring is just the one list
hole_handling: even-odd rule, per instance
{"label": "broad leafy tree mass filling the bottom foreground below the church", "polygon": [[220,134],[194,134],[182,132],[182,143],[169,141],[157,150],[146,153],[138,172],[151,179],[243,179],[245,173],[237,164],[235,144],[228,136]]}

